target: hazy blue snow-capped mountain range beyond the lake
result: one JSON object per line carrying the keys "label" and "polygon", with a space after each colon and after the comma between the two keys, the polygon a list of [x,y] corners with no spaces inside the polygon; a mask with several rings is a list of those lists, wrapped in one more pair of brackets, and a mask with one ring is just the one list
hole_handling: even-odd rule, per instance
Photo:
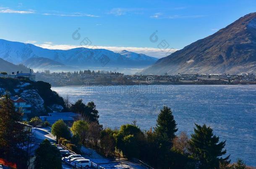
{"label": "hazy blue snow-capped mountain range beyond the lake", "polygon": [[[73,48],[70,50],[50,50],[29,43],[12,42],[0,39],[0,58],[14,64],[26,63],[29,66],[31,58],[48,58],[66,66],[84,67],[121,67],[145,68],[157,61],[143,54],[128,51],[115,53],[106,49]],[[48,61],[47,61],[48,62]],[[32,67],[33,68],[33,67]]]}

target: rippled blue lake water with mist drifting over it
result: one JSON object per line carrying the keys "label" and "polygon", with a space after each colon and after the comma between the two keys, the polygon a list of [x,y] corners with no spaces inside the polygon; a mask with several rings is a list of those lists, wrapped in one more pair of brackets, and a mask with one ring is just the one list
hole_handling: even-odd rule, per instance
{"label": "rippled blue lake water with mist drifting over it", "polygon": [[193,132],[194,123],[214,129],[227,140],[232,161],[243,159],[256,166],[256,86],[177,85],[53,87],[71,101],[94,101],[104,127],[120,127],[137,120],[142,130],[155,126],[163,105],[170,106],[178,133]]}

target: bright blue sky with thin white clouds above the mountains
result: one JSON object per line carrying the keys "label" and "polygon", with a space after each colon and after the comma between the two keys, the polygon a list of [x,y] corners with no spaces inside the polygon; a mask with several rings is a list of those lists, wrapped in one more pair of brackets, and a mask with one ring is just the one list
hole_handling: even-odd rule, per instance
{"label": "bright blue sky with thin white clouds above the mountains", "polygon": [[58,49],[88,38],[84,47],[160,58],[252,12],[256,0],[0,0],[0,38]]}

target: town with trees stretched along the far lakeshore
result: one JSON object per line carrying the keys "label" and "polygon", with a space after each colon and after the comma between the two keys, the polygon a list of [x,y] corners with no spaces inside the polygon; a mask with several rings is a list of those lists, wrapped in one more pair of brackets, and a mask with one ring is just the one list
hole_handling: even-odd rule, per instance
{"label": "town with trees stretched along the far lakeshore", "polygon": [[[125,75],[112,71],[74,71],[50,73],[49,70],[36,72],[38,81],[46,81],[52,86],[81,86],[81,85],[138,85],[138,84],[256,84],[253,73],[238,75],[209,73],[209,74],[178,74],[178,75]],[[0,75],[1,76],[1,75]]]}

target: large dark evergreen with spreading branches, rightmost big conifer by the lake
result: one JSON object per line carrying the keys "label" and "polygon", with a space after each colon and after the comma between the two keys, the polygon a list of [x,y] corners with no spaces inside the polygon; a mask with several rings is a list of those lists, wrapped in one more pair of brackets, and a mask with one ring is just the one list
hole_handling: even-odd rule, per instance
{"label": "large dark evergreen with spreading branches, rightmost big conifer by the lake", "polygon": [[194,134],[191,134],[189,141],[191,156],[199,162],[202,169],[219,168],[219,164],[229,164],[229,156],[222,159],[222,155],[226,154],[225,147],[226,141],[219,142],[219,137],[213,134],[213,130],[207,127],[196,125]]}

